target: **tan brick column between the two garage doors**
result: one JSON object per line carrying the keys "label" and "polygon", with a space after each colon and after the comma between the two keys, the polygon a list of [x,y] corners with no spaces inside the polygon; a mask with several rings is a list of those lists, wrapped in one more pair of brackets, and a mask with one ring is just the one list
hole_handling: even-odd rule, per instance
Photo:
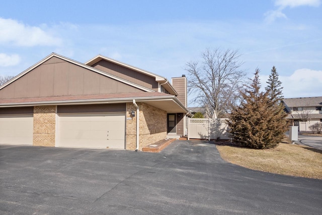
{"label": "tan brick column between the two garage doors", "polygon": [[56,106],[34,107],[33,145],[55,147]]}

